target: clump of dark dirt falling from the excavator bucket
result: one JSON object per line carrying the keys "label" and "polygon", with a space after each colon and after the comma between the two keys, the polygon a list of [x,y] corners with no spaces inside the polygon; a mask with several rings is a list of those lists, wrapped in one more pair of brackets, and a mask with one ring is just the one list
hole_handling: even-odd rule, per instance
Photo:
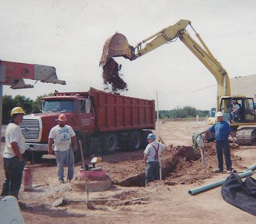
{"label": "clump of dark dirt falling from the excavator bucket", "polygon": [[103,83],[105,84],[105,90],[108,89],[110,84],[114,93],[127,91],[127,83],[122,79],[123,76],[120,73],[122,65],[118,65],[113,58],[109,58],[107,63],[103,66]]}

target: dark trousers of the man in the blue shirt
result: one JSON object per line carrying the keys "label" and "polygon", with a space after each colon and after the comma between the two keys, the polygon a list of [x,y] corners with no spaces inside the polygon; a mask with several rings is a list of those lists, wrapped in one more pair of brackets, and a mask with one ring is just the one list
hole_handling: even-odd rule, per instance
{"label": "dark trousers of the man in the blue shirt", "polygon": [[218,157],[218,168],[223,170],[223,154],[225,156],[225,163],[227,166],[227,170],[232,170],[232,162],[230,158],[230,147],[229,141],[216,141],[216,150],[217,150],[217,157]]}

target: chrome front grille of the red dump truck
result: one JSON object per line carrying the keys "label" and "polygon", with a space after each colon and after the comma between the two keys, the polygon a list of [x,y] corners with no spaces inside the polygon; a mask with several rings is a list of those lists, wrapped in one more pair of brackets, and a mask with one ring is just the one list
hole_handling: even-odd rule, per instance
{"label": "chrome front grille of the red dump truck", "polygon": [[37,139],[39,135],[39,122],[33,119],[24,119],[20,124],[22,134],[27,139]]}

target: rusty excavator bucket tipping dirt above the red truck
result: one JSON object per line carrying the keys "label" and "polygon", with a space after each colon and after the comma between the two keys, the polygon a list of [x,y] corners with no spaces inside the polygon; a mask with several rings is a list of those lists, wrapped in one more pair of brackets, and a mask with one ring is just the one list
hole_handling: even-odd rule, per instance
{"label": "rusty excavator bucket tipping dirt above the red truck", "polygon": [[102,56],[100,58],[100,66],[104,66],[109,58],[124,56],[131,58],[131,47],[127,38],[122,33],[115,33],[106,40]]}

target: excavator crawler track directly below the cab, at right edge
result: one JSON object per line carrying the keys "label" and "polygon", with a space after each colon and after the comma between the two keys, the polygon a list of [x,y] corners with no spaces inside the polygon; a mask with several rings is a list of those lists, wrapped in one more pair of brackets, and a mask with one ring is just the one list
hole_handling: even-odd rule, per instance
{"label": "excavator crawler track directly below the cab, at right edge", "polygon": [[238,145],[252,145],[256,140],[256,127],[243,127],[236,132]]}

